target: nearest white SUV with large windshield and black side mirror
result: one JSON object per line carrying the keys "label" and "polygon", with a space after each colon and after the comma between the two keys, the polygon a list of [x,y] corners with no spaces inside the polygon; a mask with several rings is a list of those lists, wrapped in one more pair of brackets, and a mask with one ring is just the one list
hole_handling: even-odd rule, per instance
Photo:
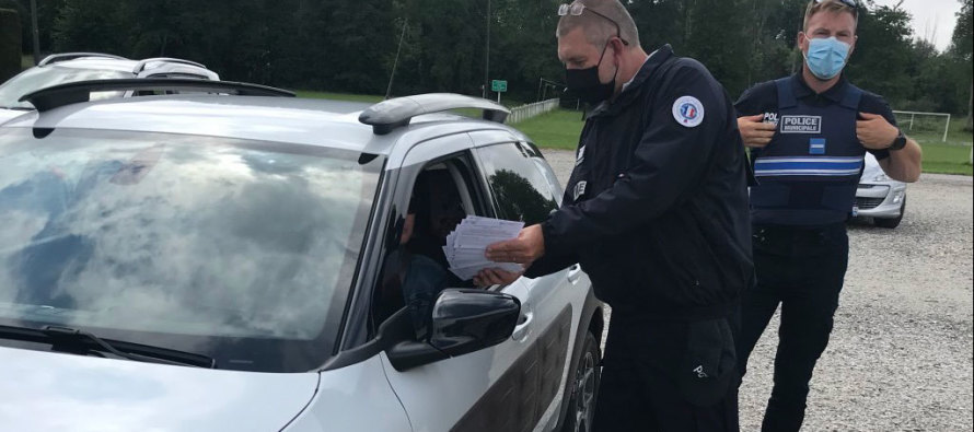
{"label": "nearest white SUV with large windshield and black side mirror", "polygon": [[[588,430],[603,306],[577,265],[437,287],[421,334],[398,289],[415,200],[431,244],[558,206],[505,107],[140,82],[0,126],[2,429]],[[213,94],[77,102],[146,90]]]}

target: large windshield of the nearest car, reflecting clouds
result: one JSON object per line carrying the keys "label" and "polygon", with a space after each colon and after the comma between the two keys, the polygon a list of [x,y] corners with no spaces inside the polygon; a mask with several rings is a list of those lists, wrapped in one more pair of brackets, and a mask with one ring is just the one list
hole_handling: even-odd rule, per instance
{"label": "large windshield of the nearest car, reflecting clouds", "polygon": [[221,369],[314,369],[332,352],[384,163],[359,156],[0,128],[0,325],[84,328]]}

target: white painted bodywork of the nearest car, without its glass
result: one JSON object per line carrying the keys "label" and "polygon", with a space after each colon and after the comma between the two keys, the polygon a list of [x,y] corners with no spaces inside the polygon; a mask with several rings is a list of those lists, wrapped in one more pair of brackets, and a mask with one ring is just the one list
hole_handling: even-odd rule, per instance
{"label": "white painted bodywork of the nearest car, without its glass", "polygon": [[[457,152],[478,160],[486,147],[530,142],[502,124],[448,114],[418,116],[376,135],[358,120],[363,107],[218,95],[114,98],[25,114],[0,126],[0,137],[11,128],[177,132],[376,154],[385,165],[373,226],[385,226],[393,208],[405,206],[413,177],[430,161]],[[540,161],[541,170],[550,170]],[[560,186],[552,187],[560,198]],[[380,231],[372,230],[362,247],[362,275],[381,267]],[[508,340],[406,371],[394,369],[364,337],[373,283],[363,277],[349,288],[337,357],[305,372],[219,371],[0,347],[0,424],[31,431],[308,432],[531,424],[529,430],[552,431],[571,415],[567,399],[579,340],[587,332],[598,339],[602,328],[601,303],[578,266],[495,288],[521,302]],[[356,360],[335,365],[346,357]]]}

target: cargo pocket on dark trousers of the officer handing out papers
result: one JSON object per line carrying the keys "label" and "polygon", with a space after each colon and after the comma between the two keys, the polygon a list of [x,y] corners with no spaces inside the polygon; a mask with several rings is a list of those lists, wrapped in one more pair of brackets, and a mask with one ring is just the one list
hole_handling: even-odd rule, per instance
{"label": "cargo pocket on dark trousers of the officer handing out papers", "polygon": [[687,347],[676,385],[686,401],[709,407],[722,400],[737,385],[737,355],[730,324],[726,318],[689,323]]}

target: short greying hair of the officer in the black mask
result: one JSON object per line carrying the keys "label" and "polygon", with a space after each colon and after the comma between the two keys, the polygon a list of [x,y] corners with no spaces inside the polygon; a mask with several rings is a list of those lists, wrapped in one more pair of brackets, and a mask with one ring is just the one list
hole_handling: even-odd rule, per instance
{"label": "short greying hair of the officer in the black mask", "polygon": [[[587,9],[591,9],[604,15],[604,17],[585,12],[582,12],[579,16],[570,14],[561,16],[558,20],[557,37],[560,38],[569,32],[581,27],[592,45],[602,45],[611,37],[618,36],[629,44],[629,47],[639,46],[639,30],[636,28],[636,21],[633,20],[633,15],[618,0],[575,0],[572,3],[584,4]],[[615,24],[613,24],[613,21]],[[616,34],[616,24],[618,24],[618,34]]]}

